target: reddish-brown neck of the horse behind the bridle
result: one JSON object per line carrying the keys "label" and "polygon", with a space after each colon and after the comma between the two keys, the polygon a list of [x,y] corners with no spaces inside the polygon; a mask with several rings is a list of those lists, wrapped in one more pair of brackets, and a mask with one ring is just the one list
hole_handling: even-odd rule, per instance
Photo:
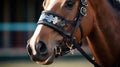
{"label": "reddish-brown neck of the horse behind the bridle", "polygon": [[96,14],[93,30],[87,37],[89,46],[98,63],[111,66],[120,56],[120,21],[107,0],[89,2]]}

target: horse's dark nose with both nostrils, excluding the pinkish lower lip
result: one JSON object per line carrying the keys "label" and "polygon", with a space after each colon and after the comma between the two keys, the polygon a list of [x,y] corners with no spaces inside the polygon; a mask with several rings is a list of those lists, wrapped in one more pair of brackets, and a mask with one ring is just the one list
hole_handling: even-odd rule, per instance
{"label": "horse's dark nose with both nostrils, excluding the pinkish lower lip", "polygon": [[49,57],[47,46],[41,41],[35,45],[35,55],[33,55],[33,50],[30,45],[27,46],[27,50],[33,61],[45,61]]}

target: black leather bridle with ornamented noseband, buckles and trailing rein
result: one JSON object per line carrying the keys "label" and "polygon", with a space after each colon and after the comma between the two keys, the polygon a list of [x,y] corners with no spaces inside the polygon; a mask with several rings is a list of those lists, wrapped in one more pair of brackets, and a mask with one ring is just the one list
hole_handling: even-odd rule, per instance
{"label": "black leather bridle with ornamented noseband, buckles and trailing rein", "polygon": [[[75,38],[75,34],[80,29],[81,37],[83,38],[83,29],[80,24],[81,19],[87,15],[86,13],[86,6],[87,1],[81,0],[79,3],[78,13],[73,21],[69,21],[62,17],[61,15],[52,12],[52,11],[43,11],[40,19],[38,21],[39,24],[43,24],[45,26],[48,26],[58,33],[60,33],[63,36],[63,41],[60,43],[61,45],[58,45],[55,48],[55,56],[62,56],[64,54],[67,54],[69,52],[73,53],[73,49],[77,49],[79,52],[82,53],[92,64],[95,65],[95,67],[100,67],[94,60],[92,60],[85,52],[82,50],[81,45],[82,41],[78,42]],[[59,21],[59,22],[58,22]],[[67,25],[70,25],[74,28],[74,31],[72,33],[69,33],[70,29],[65,29]],[[69,43],[67,43],[69,41]],[[66,46],[65,49],[63,49]]]}

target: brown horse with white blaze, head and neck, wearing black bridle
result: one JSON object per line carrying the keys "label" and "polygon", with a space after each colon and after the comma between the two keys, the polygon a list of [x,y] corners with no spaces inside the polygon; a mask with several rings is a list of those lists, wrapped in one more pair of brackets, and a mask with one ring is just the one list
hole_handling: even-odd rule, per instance
{"label": "brown horse with white blaze, head and neck, wearing black bridle", "polygon": [[33,61],[51,64],[85,38],[98,67],[120,67],[120,14],[107,0],[44,0],[43,7],[27,45]]}

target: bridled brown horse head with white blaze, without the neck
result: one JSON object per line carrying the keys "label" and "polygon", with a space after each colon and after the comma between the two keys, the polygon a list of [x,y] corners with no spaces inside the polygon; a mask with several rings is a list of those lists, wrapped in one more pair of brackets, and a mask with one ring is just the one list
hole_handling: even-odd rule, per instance
{"label": "bridled brown horse head with white blaze, without the neck", "polygon": [[45,0],[44,11],[27,45],[32,60],[51,64],[54,58],[71,52],[74,40],[79,43],[93,25],[81,20],[88,18],[86,6],[86,0]]}

